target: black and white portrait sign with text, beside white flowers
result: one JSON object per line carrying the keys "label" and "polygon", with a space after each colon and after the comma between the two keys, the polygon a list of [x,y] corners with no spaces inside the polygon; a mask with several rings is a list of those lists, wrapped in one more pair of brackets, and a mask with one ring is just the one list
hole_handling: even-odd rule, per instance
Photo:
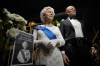
{"label": "black and white portrait sign with text, beside white flowers", "polygon": [[33,36],[31,34],[19,31],[16,37],[12,55],[11,65],[31,65],[33,52]]}

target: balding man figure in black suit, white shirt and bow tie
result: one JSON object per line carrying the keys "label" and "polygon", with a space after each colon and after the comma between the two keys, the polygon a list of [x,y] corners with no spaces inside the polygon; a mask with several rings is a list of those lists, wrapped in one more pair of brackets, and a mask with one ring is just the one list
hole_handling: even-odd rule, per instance
{"label": "balding man figure in black suit, white shirt and bow tie", "polygon": [[68,18],[60,22],[60,30],[66,41],[61,47],[65,66],[92,66],[90,45],[84,36],[83,23],[75,19],[76,8],[68,6],[65,10]]}

